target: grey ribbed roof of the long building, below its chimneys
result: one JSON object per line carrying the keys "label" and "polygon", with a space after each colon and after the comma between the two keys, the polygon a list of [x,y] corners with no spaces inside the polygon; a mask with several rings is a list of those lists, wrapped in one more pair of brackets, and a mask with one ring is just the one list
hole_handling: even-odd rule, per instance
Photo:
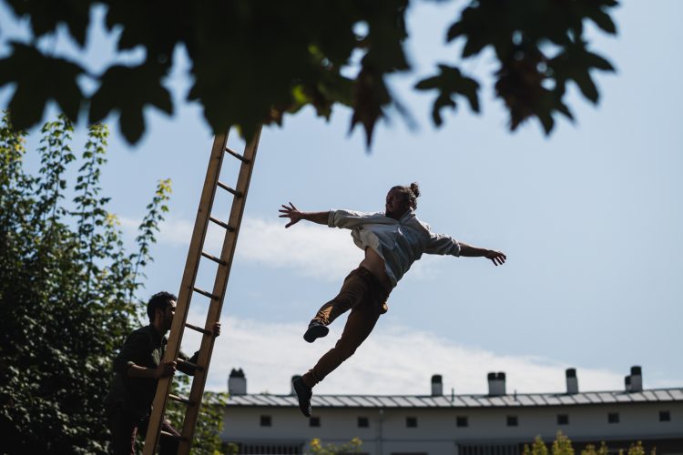
{"label": "grey ribbed roof of the long building, below its chimneys", "polygon": [[[516,393],[512,395],[313,395],[315,408],[511,408],[577,406],[640,402],[683,401],[683,388],[639,392],[602,391],[567,393]],[[298,407],[294,395],[233,395],[228,406]]]}

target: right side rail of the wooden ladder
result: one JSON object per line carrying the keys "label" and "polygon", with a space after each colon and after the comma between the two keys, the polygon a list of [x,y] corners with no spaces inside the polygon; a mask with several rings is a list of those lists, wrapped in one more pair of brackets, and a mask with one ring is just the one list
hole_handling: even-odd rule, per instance
{"label": "right side rail of the wooden ladder", "polygon": [[[254,167],[254,160],[256,152],[259,147],[261,127],[256,132],[256,135],[250,141],[250,144],[244,151],[244,157],[248,162],[242,162],[240,166],[240,174],[236,189],[241,192],[241,197],[235,197],[230,209],[229,225],[235,227],[233,232],[226,231],[226,237],[223,243],[223,249],[220,253],[220,258],[227,262],[226,267],[219,268],[216,281],[214,283],[213,294],[220,296],[219,301],[212,301],[209,306],[209,314],[207,315],[206,329],[211,329],[214,322],[220,319],[220,311],[223,306],[226,288],[228,287],[228,279],[230,268],[232,266],[232,258],[237,247],[238,235],[240,233],[240,226],[242,215],[244,214],[244,207],[247,203],[247,194],[249,191],[251,173]],[[204,387],[206,385],[207,376],[209,374],[209,363],[211,354],[213,352],[215,337],[205,336],[201,340],[201,348],[199,349],[198,364],[204,367],[201,371],[195,373],[192,379],[192,389],[190,390],[189,400],[196,403],[196,406],[190,406],[185,413],[185,420],[183,429],[181,431],[182,439],[178,447],[178,455],[189,454],[192,445],[192,438],[194,437],[195,427],[199,418],[199,410],[201,406],[201,399],[204,395]]]}

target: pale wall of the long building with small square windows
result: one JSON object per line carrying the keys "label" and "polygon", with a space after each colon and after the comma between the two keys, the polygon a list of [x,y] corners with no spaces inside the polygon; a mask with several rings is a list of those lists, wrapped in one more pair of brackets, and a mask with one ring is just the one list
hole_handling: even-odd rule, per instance
{"label": "pale wall of the long building with small square windows", "polygon": [[[669,412],[670,421],[659,421],[662,410]],[[607,422],[609,412],[619,414],[619,423]],[[568,415],[569,423],[558,425],[557,414]],[[506,425],[508,415],[517,417],[517,427]],[[270,427],[260,426],[261,416],[270,416]],[[576,450],[583,449],[582,440],[683,438],[683,402],[674,401],[533,408],[318,408],[314,416],[320,427],[311,427],[293,407],[229,407],[222,438],[300,443],[319,438],[339,444],[358,437],[367,453],[436,455],[455,454],[458,443],[531,442],[536,435],[551,441],[557,430],[577,443]],[[467,417],[466,428],[456,426],[457,416]],[[358,428],[359,417],[368,418],[369,428]],[[406,427],[407,417],[417,419],[416,428]]]}

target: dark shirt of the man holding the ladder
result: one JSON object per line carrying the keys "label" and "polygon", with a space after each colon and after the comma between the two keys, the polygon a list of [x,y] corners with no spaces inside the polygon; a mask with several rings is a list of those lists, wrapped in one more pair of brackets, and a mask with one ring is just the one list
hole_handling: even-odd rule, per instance
{"label": "dark shirt of the man holding the ladder", "polygon": [[[121,352],[114,360],[111,389],[105,399],[107,413],[121,410],[135,419],[149,414],[157,392],[158,379],[129,378],[126,372],[131,365],[156,369],[164,359],[167,343],[168,339],[162,337],[152,325],[137,329],[128,335]],[[195,353],[189,361],[196,363],[198,354]],[[188,360],[188,356],[182,352],[178,357]],[[178,369],[189,375],[194,374],[194,369],[179,362]]]}

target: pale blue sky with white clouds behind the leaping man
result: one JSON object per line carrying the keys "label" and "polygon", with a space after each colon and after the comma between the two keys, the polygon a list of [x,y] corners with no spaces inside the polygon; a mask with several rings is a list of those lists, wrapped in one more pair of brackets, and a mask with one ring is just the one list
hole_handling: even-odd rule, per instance
{"label": "pale blue sky with white clouds behind the leaping man", "polygon": [[[327,339],[313,345],[301,339],[362,252],[348,231],[303,223],[285,230],[280,204],[381,210],[389,187],[413,181],[423,191],[417,215],[434,231],[501,249],[508,262],[499,268],[477,258],[417,262],[370,339],[320,392],[428,393],[434,373],[443,374],[445,389],[484,392],[485,373],[498,370],[508,373],[508,390],[561,391],[567,367],[578,369],[581,389],[621,389],[631,365],[643,367],[647,388],[681,385],[683,31],[677,18],[683,5],[625,2],[616,12],[617,38],[593,31],[591,43],[617,74],[595,75],[598,106],[572,87],[576,123],[560,120],[548,137],[535,122],[507,131],[489,55],[464,63],[465,71],[484,78],[483,114],[460,106],[445,116],[443,128],[431,125],[433,96],[410,86],[434,62],[457,54],[457,45],[442,45],[439,24],[459,5],[420,2],[410,12],[416,74],[397,76],[392,85],[417,129],[392,116],[377,128],[372,154],[360,131],[347,135],[344,108],[330,123],[307,109],[264,130],[210,388],[223,389],[229,369],[241,367],[250,391],[288,392],[291,375],[310,368],[341,333],[343,319]],[[3,5],[3,39],[22,35],[23,27]],[[97,71],[114,41],[95,30],[90,43],[86,61]],[[72,52],[63,39],[46,45]],[[212,141],[199,107],[182,102],[189,78],[181,50],[177,60],[170,78],[180,101],[174,116],[148,112],[148,131],[136,147],[118,135],[117,119],[109,120],[103,185],[128,238],[156,181],[173,181],[143,298],[162,288],[178,291]],[[8,96],[6,87],[0,90],[3,106]],[[76,138],[81,144],[84,128]],[[27,164],[36,168],[35,154]],[[226,201],[219,205],[217,213],[227,215]],[[199,282],[210,288],[211,279],[211,269],[202,267]],[[190,319],[201,323],[200,299],[194,303]],[[196,344],[189,337],[187,350]]]}

